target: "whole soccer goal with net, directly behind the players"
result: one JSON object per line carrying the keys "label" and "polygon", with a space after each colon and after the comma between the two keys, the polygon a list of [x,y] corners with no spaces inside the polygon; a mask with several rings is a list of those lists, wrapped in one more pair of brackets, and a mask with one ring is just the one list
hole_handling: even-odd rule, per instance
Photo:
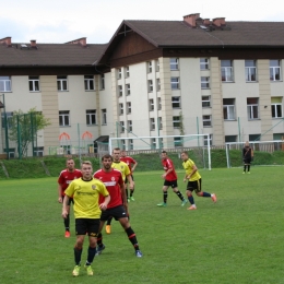
{"label": "whole soccer goal with net, directly behind the players", "polygon": [[180,157],[180,153],[187,151],[190,158],[192,158],[199,167],[211,170],[209,134],[109,138],[109,153],[111,153],[115,147],[126,150],[129,155],[154,155],[165,150],[168,153],[176,153]]}

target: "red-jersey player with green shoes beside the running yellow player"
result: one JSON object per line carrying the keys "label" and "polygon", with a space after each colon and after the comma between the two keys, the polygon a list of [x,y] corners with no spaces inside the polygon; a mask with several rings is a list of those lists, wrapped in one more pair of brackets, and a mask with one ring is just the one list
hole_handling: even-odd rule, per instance
{"label": "red-jersey player with green shoes beside the running yellow player", "polygon": [[168,158],[166,151],[162,151],[162,165],[165,169],[165,174],[162,175],[162,178],[165,179],[164,186],[162,189],[164,202],[158,203],[157,205],[161,208],[165,208],[167,205],[167,190],[169,187],[171,187],[174,192],[181,200],[181,206],[185,206],[185,204],[188,201],[184,198],[182,193],[178,190],[177,174],[176,174],[173,161],[170,158]]}

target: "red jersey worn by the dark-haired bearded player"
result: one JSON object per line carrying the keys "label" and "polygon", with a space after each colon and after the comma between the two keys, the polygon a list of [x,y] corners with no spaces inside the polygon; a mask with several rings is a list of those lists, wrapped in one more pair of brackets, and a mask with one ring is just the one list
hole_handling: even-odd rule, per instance
{"label": "red jersey worn by the dark-haired bearded player", "polygon": [[[111,168],[110,171],[104,171],[103,169],[98,169],[94,174],[94,178],[97,178],[102,182],[104,182],[104,185],[107,188],[107,191],[109,192],[110,201],[107,205],[108,209],[122,205],[120,186],[123,187],[125,184],[122,175],[118,169]],[[105,198],[103,196],[99,196],[99,203],[104,202],[104,199]]]}

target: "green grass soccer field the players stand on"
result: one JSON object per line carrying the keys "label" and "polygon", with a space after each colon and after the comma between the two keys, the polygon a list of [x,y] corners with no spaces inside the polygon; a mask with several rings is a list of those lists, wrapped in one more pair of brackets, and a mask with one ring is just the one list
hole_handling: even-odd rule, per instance
{"label": "green grass soccer field the players stand on", "polygon": [[[163,201],[161,171],[135,173],[130,223],[143,258],[118,222],[104,234],[106,249],[93,262],[94,276],[74,267],[74,218],[64,238],[57,178],[1,180],[0,283],[284,283],[283,167],[200,170],[203,191],[188,211],[168,194]],[[179,189],[185,193],[184,173]],[[82,253],[86,259],[87,239]]]}

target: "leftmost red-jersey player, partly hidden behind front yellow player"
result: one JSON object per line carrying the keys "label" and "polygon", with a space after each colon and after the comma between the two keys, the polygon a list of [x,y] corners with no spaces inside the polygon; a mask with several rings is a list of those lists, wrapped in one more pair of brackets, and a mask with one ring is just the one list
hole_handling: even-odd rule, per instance
{"label": "leftmost red-jersey player, partly hidden behind front yellow player", "polygon": [[[58,202],[59,203],[63,203],[63,199],[64,199],[64,191],[68,188],[69,184],[71,184],[71,181],[73,179],[76,178],[81,178],[82,177],[82,173],[80,169],[75,168],[75,162],[72,158],[67,159],[66,162],[67,168],[63,169],[59,177],[58,177]],[[66,238],[70,237],[70,217],[69,217],[69,212],[70,212],[70,204],[74,203],[73,199],[70,198],[69,202],[68,202],[68,215],[64,218],[64,227],[66,227]]]}

